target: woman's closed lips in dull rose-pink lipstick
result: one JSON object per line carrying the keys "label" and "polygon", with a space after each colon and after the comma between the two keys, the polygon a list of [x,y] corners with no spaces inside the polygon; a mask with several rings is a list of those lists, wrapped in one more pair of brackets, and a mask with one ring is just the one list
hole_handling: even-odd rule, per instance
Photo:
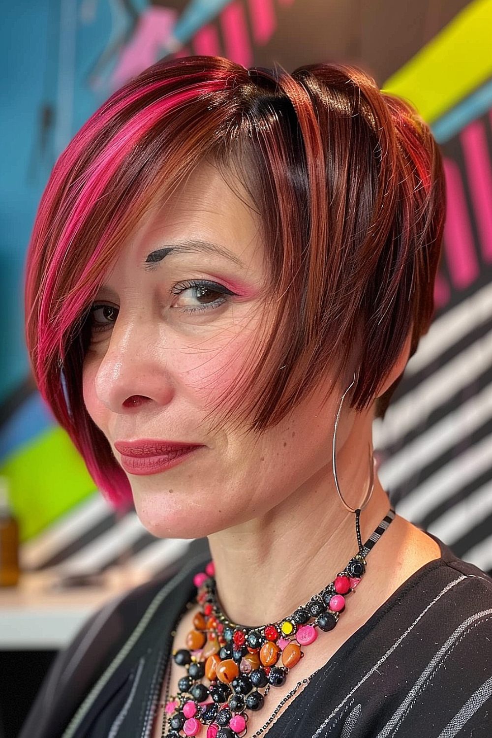
{"label": "woman's closed lips in dull rose-pink lipstick", "polygon": [[116,441],[125,472],[134,475],[159,474],[189,457],[201,444],[180,444],[142,438],[138,441]]}

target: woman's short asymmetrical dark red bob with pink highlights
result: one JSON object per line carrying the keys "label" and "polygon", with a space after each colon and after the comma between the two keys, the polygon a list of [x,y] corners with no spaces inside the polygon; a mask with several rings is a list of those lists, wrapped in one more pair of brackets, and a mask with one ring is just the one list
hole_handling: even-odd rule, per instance
{"label": "woman's short asymmetrical dark red bob with pink highlights", "polygon": [[[433,313],[444,184],[437,145],[407,103],[335,64],[244,69],[159,62],[103,104],[58,159],[27,258],[27,346],[42,396],[100,489],[128,479],[83,404],[84,326],[142,215],[201,163],[239,175],[263,224],[274,328],[238,393],[261,432],[353,361],[351,407],[374,401]],[[382,416],[396,384],[378,399]],[[236,416],[236,413],[234,413]]]}

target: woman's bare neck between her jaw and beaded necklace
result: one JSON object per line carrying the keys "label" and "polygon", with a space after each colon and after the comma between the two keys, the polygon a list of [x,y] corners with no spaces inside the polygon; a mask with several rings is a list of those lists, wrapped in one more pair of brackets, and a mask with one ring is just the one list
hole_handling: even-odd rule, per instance
{"label": "woman's bare neck between her jaw and beaded necklace", "polygon": [[[368,448],[367,435],[356,432],[337,455],[340,486],[354,508],[369,483]],[[362,542],[388,508],[375,475],[373,495],[361,514]],[[281,506],[213,534],[209,545],[224,612],[235,623],[258,627],[291,615],[343,570],[358,551],[356,516],[342,505],[329,464]]]}

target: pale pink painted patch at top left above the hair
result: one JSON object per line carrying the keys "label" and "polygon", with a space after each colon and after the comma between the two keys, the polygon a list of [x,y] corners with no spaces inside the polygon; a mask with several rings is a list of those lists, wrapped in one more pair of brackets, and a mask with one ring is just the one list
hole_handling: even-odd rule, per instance
{"label": "pale pink painted patch at top left above the hair", "polygon": [[162,56],[161,49],[169,41],[177,17],[177,11],[167,7],[151,5],[144,10],[114,69],[111,77],[114,86],[121,86]]}

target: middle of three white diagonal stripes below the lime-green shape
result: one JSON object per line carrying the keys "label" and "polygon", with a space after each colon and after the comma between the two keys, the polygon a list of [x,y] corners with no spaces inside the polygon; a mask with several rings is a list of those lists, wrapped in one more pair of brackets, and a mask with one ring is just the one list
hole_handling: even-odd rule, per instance
{"label": "middle of three white diagonal stripes below the lime-green shape", "polygon": [[109,531],[65,559],[60,564],[60,572],[66,576],[100,570],[117,556],[127,553],[146,532],[136,513],[130,512]]}

